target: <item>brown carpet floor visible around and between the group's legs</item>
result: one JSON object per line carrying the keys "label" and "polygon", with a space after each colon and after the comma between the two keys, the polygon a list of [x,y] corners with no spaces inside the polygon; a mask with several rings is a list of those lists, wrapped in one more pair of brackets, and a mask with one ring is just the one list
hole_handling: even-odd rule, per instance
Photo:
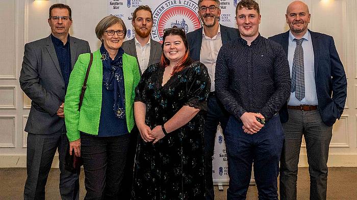
{"label": "brown carpet floor visible around and between the group's legs", "polygon": [[[26,180],[26,168],[0,168],[0,199],[23,199],[23,187]],[[81,172],[80,199],[86,193],[84,188],[84,172]],[[60,199],[59,169],[52,168],[46,185],[46,199]],[[215,187],[216,200],[226,199],[227,186],[224,191]],[[309,199],[310,178],[307,167],[300,167],[297,180],[297,199]],[[256,186],[249,186],[247,199],[258,199]],[[327,199],[357,200],[357,167],[329,167],[327,180]]]}

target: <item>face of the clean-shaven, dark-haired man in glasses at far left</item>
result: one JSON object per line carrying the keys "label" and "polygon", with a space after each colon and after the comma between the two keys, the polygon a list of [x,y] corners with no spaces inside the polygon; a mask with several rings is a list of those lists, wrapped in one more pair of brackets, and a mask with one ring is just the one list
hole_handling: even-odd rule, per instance
{"label": "face of the clean-shaven, dark-haired man in glasses at far left", "polygon": [[[51,11],[50,16],[69,16],[69,12],[66,8],[54,8]],[[51,27],[52,35],[55,37],[66,36],[68,35],[69,28],[72,25],[72,19],[63,20],[59,18],[58,20],[54,20],[53,18],[48,18],[49,27]]]}

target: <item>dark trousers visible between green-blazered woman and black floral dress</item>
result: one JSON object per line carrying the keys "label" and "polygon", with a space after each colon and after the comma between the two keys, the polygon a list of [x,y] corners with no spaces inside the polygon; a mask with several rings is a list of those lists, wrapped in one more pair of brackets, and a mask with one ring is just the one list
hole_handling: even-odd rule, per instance
{"label": "dark trousers visible between green-blazered woman and black floral dress", "polygon": [[138,145],[139,130],[134,126],[130,133],[130,142],[126,154],[126,164],[124,168],[123,184],[119,188],[119,199],[130,199],[132,194],[133,186],[133,175],[134,175],[134,161],[136,147]]}

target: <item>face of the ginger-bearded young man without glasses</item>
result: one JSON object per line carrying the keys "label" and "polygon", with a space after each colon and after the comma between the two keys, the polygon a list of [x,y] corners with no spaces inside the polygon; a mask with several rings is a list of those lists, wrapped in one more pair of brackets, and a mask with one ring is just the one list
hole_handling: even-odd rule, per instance
{"label": "face of the ginger-bearded young man without glasses", "polygon": [[151,13],[146,10],[139,10],[132,24],[137,36],[141,38],[149,37],[152,28]]}

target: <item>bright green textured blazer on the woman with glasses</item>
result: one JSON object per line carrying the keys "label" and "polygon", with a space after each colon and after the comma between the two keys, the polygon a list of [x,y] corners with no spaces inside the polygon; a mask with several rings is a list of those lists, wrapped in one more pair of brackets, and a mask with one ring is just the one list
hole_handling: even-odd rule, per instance
{"label": "bright green textured blazer on the woman with glasses", "polygon": [[[86,76],[90,54],[81,54],[73,67],[64,103],[65,123],[69,141],[80,139],[80,131],[98,135],[101,111],[101,88],[103,84],[103,64],[99,49],[93,53],[93,63],[89,71],[87,90],[84,93],[81,111],[78,111],[80,94]],[[135,87],[140,80],[136,58],[123,54],[123,75],[125,89],[125,117],[127,130],[134,127]]]}

